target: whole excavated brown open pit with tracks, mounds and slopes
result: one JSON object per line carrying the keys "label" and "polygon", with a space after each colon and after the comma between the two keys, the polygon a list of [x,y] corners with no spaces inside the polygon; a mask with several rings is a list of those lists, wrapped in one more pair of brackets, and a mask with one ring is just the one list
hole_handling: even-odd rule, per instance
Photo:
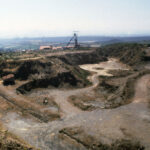
{"label": "whole excavated brown open pit with tracks, mounds and slopes", "polygon": [[112,44],[1,61],[0,149],[150,150],[150,48]]}

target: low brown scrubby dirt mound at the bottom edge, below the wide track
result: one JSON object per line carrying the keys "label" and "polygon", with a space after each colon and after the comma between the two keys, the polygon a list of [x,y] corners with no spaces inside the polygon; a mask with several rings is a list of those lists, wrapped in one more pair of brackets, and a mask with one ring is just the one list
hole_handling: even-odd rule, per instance
{"label": "low brown scrubby dirt mound at the bottom edge, below the wide track", "polygon": [[60,138],[67,143],[75,141],[91,150],[144,150],[145,148],[137,141],[122,139],[113,142],[111,145],[102,143],[99,139],[84,132],[81,127],[64,128],[59,131]]}

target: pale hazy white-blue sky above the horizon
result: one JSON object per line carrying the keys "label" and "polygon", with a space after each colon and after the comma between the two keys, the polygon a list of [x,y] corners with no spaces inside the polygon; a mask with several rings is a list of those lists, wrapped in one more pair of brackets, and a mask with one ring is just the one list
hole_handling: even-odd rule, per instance
{"label": "pale hazy white-blue sky above the horizon", "polygon": [[150,0],[0,0],[0,37],[150,34]]}

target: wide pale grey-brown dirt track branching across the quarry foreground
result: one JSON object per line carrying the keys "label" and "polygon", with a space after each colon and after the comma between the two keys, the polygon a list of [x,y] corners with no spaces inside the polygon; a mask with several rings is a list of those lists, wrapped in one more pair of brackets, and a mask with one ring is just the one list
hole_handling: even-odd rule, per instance
{"label": "wide pale grey-brown dirt track branching across the quarry foreground", "polygon": [[[9,113],[3,118],[3,122],[11,132],[42,150],[70,150],[61,141],[57,141],[55,136],[59,130],[71,126],[82,126],[85,132],[105,143],[122,138],[136,139],[149,150],[150,112],[147,102],[147,83],[150,81],[150,75],[144,75],[137,80],[132,103],[116,109],[83,112],[72,106],[67,101],[67,97],[81,92],[90,92],[98,84],[97,74],[93,75],[91,79],[93,81],[92,87],[69,91],[50,91],[62,109],[63,118],[61,120],[47,124],[38,123],[31,119],[22,118],[16,113]],[[74,149],[77,148],[74,147]]]}

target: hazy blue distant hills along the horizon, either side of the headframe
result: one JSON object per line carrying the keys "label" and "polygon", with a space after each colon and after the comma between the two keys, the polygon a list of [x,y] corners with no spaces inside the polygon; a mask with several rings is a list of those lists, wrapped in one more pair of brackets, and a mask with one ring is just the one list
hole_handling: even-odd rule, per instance
{"label": "hazy blue distant hills along the horizon, either side of the headframe", "polygon": [[[41,45],[61,45],[64,46],[71,37],[37,37],[37,38],[14,38],[0,39],[0,50],[23,50],[38,49]],[[150,43],[150,36],[140,37],[111,37],[111,36],[80,36],[80,43],[90,44],[114,44],[114,43]]]}

